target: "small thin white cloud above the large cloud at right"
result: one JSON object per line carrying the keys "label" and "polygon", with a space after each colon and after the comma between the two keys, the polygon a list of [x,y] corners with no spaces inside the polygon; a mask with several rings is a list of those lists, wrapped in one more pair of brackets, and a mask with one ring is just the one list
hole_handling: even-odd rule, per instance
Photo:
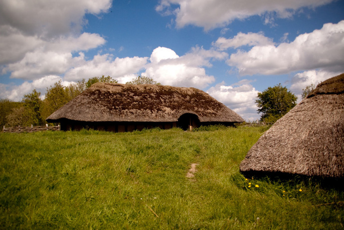
{"label": "small thin white cloud above the large cloud at right", "polygon": [[241,33],[239,32],[233,38],[226,39],[224,37],[219,37],[216,42],[212,45],[217,47],[219,50],[226,50],[230,47],[238,48],[240,46],[264,46],[273,45],[272,39],[265,37],[263,33]]}

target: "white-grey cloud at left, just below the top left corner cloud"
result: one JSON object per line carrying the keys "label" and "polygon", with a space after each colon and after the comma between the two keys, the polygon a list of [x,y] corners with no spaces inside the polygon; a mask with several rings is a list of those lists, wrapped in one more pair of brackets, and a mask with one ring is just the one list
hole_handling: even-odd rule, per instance
{"label": "white-grey cloud at left, just below the top left corner cloud", "polygon": [[[72,52],[96,48],[103,45],[105,40],[99,34],[83,33],[78,37],[60,37],[50,42],[36,39],[36,42],[39,46],[32,51],[26,51],[20,61],[8,64],[2,72],[11,72],[11,78],[25,80],[60,75],[80,61],[80,56],[72,57]],[[15,45],[11,44],[9,47]],[[7,51],[0,51],[0,56],[3,52]],[[14,59],[14,56],[11,58]]]}

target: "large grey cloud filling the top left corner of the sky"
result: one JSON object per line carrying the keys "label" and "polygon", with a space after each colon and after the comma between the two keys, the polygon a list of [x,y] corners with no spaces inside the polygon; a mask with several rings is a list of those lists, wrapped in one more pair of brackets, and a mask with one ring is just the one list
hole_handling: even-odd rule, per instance
{"label": "large grey cloud filling the top left corner of the sky", "polygon": [[85,13],[99,14],[112,0],[1,0],[0,25],[20,30],[24,35],[55,37],[79,33],[86,23]]}

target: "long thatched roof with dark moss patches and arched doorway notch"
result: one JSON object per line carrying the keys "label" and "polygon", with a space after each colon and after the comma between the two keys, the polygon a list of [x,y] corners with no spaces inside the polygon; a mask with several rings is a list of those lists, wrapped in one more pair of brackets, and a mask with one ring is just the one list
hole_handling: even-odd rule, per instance
{"label": "long thatched roof with dark moss patches and arched doorway notch", "polygon": [[207,93],[194,88],[96,83],[46,120],[173,122],[185,113],[200,122],[244,120]]}

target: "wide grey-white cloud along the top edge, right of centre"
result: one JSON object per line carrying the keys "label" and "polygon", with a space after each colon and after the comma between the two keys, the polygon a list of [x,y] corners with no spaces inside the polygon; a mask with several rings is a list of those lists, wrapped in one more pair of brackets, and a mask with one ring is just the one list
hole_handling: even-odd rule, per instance
{"label": "wide grey-white cloud along the top edge, right of centre", "polygon": [[209,30],[225,26],[235,19],[266,13],[269,15],[266,23],[271,23],[271,12],[286,18],[291,17],[299,8],[316,7],[331,1],[333,0],[161,0],[156,10],[163,15],[175,14],[176,26],[179,28],[192,24]]}

